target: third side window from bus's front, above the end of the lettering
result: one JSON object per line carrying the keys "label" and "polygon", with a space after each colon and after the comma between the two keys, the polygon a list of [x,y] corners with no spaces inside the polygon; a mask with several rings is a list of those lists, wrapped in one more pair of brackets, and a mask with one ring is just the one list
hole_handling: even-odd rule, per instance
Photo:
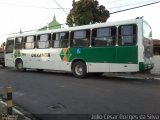
{"label": "third side window from bus's front, above the end of the lettering", "polygon": [[38,48],[49,48],[50,47],[51,34],[38,35]]}

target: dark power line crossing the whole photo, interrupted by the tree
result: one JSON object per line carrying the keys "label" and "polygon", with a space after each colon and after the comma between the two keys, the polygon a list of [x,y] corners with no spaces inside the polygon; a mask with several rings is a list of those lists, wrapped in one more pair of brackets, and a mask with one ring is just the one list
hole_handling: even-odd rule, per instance
{"label": "dark power line crossing the whole photo, interrupted by the tree", "polygon": [[[145,7],[145,6],[149,6],[149,5],[153,5],[153,4],[157,4],[157,3],[160,3],[160,1],[153,2],[153,3],[149,3],[149,4],[145,4],[145,5],[141,5],[141,6],[137,6],[137,7],[132,7],[132,8],[124,9],[124,10],[115,11],[115,12],[112,12],[112,13],[110,13],[110,14],[115,14],[115,13],[119,13],[119,12],[124,12],[124,11],[132,10],[132,9],[137,9],[137,8],[140,8],[140,7]],[[65,24],[66,24],[66,23],[59,24],[59,25],[65,25]],[[50,27],[46,27],[46,28],[52,28],[52,27],[55,27],[55,26],[57,26],[57,25],[50,26]],[[28,31],[23,31],[23,33],[25,33],[25,32],[31,32],[31,31],[37,31],[37,29],[28,30]],[[17,33],[10,33],[10,34],[4,34],[4,35],[0,35],[0,36],[7,36],[7,35],[12,35],[12,34],[19,34],[19,32],[17,32]]]}

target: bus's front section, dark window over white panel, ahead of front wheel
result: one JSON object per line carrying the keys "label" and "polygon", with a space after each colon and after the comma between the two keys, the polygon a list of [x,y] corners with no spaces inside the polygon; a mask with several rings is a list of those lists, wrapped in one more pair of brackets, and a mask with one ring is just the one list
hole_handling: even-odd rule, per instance
{"label": "bus's front section, dark window over white panel, ahead of front wheel", "polygon": [[14,39],[8,39],[5,52],[5,66],[14,67]]}

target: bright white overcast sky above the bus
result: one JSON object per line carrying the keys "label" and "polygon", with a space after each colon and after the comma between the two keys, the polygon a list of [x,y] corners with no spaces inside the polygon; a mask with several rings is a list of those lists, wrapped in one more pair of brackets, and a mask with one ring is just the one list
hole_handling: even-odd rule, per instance
{"label": "bright white overcast sky above the bus", "polygon": [[[59,3],[64,12],[56,4]],[[159,0],[98,0],[110,13]],[[58,9],[55,9],[58,8]],[[53,16],[59,23],[66,23],[67,13],[72,8],[72,0],[0,0],[0,44],[7,35],[20,31],[36,30],[46,26]],[[160,39],[160,3],[111,14],[107,22],[142,17],[151,25],[153,38]],[[64,26],[66,27],[66,26]]]}

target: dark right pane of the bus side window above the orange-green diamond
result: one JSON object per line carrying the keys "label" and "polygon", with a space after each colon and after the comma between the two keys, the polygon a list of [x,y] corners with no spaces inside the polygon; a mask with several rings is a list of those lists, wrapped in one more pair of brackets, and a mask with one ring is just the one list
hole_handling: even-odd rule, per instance
{"label": "dark right pane of the bus side window above the orange-green diamond", "polygon": [[67,48],[68,47],[69,32],[60,33],[59,38],[60,38],[60,47]]}

